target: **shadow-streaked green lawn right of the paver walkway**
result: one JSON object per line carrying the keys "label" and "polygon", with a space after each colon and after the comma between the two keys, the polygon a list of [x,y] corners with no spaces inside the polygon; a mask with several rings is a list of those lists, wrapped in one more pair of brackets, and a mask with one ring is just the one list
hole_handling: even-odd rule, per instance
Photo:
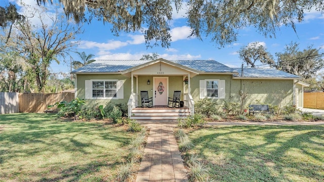
{"label": "shadow-streaked green lawn right of the paver walkway", "polygon": [[323,181],[324,125],[228,126],[191,130],[216,181]]}

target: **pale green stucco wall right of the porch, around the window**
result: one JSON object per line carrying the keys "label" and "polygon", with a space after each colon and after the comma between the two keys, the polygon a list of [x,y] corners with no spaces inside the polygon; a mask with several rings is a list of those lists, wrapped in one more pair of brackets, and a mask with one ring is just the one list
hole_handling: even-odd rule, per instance
{"label": "pale green stucco wall right of the porch, around the window", "polygon": [[232,79],[231,75],[197,75],[190,79],[191,95],[199,100],[199,80],[225,80],[225,99],[212,99],[213,102],[239,102],[241,93],[246,94],[245,105],[271,104],[293,105],[294,80]]}

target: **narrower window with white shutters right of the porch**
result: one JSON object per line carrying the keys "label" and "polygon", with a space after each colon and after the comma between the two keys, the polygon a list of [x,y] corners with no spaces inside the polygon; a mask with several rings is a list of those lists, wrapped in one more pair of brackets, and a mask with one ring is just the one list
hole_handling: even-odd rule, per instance
{"label": "narrower window with white shutters right of the porch", "polygon": [[225,99],[225,80],[199,80],[199,99]]}

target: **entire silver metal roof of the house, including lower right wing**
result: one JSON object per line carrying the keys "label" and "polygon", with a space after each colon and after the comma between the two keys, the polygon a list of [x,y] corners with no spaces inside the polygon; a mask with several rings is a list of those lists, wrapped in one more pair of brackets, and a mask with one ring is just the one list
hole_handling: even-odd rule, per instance
{"label": "entire silver metal roof of the house, including lower right wing", "polygon": [[[241,75],[241,68],[230,68],[215,60],[98,60],[90,63],[84,67],[73,70],[71,73],[118,73],[129,71],[130,69],[150,64],[150,62],[171,62],[187,67],[199,72],[205,73],[233,73],[234,78],[293,78],[300,79],[301,77],[286,73],[284,71],[276,70],[274,68],[244,68],[243,75]],[[237,74],[238,73],[238,74]]]}

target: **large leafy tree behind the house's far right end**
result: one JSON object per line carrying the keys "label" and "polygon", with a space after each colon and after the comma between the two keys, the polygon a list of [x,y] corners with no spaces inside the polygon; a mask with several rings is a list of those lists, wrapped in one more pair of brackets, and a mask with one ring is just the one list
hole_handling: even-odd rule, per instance
{"label": "large leafy tree behind the house's far right end", "polygon": [[299,43],[286,45],[284,53],[276,53],[278,58],[277,69],[301,76],[304,79],[314,77],[316,72],[324,66],[324,60],[319,54],[319,49],[312,45],[299,51]]}

